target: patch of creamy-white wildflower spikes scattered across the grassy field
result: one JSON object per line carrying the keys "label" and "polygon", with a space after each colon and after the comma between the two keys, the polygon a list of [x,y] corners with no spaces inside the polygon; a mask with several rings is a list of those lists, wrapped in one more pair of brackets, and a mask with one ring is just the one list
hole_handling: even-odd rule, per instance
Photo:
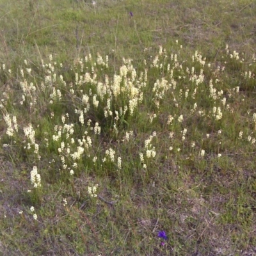
{"label": "patch of creamy-white wildflower spikes scattered across the grassy field", "polygon": [[[179,46],[179,49],[182,49],[182,45]],[[239,55],[236,51],[230,53],[228,46],[226,47],[226,52],[226,57],[229,60],[235,62],[243,61],[241,54]],[[35,81],[31,80],[33,78],[33,70],[29,67],[28,62],[24,61],[26,67],[19,70],[21,77],[19,85],[22,93],[19,95],[18,104],[22,105],[19,105],[22,108],[28,106],[29,110],[31,110],[40,107],[38,102],[40,100],[38,100],[36,95],[44,95],[45,98],[49,99],[49,102],[47,102],[49,104],[46,105],[50,106],[47,109],[49,110],[47,113],[51,117],[51,122],[54,122],[55,119],[60,120],[60,124],[54,125],[53,131],[44,132],[43,141],[45,147],[51,154],[56,153],[57,156],[54,156],[55,159],[52,157],[50,161],[51,165],[55,164],[52,168],[58,166],[60,168],[59,170],[74,175],[75,172],[77,174],[79,170],[83,169],[84,158],[86,158],[88,163],[92,162],[92,166],[98,166],[98,163],[102,164],[105,162],[116,163],[118,170],[121,170],[125,166],[123,163],[125,157],[118,156],[116,154],[118,151],[112,145],[112,148],[108,148],[107,150],[104,148],[105,155],[103,157],[96,155],[95,152],[98,151],[95,148],[99,145],[97,144],[99,142],[97,140],[99,140],[102,131],[105,130],[104,125],[107,126],[110,124],[111,127],[107,127],[111,128],[109,131],[115,131],[115,134],[118,134],[118,127],[120,127],[121,122],[127,122],[127,120],[131,122],[131,120],[134,120],[132,119],[134,116],[137,117],[137,114],[140,115],[140,106],[143,100],[147,101],[145,95],[148,93],[148,84],[152,86],[150,90],[150,102],[152,102],[152,105],[150,106],[147,122],[152,124],[153,122],[157,122],[158,118],[160,119],[162,114],[160,111],[166,99],[168,99],[168,104],[172,106],[170,112],[166,113],[164,120],[168,125],[168,129],[173,129],[173,131],[168,131],[169,138],[173,141],[172,146],[168,145],[166,148],[167,150],[173,150],[174,148],[175,150],[172,151],[173,154],[181,152],[180,150],[183,151],[182,145],[187,143],[187,141],[188,145],[191,145],[191,148],[196,147],[197,143],[195,141],[189,141],[189,136],[193,134],[193,131],[191,131],[190,127],[189,132],[187,128],[184,128],[188,127],[185,125],[187,125],[188,120],[191,120],[189,118],[193,116],[199,116],[201,120],[208,118],[205,123],[211,125],[210,122],[212,120],[223,122],[225,113],[228,111],[232,113],[233,99],[230,99],[232,97],[234,98],[234,95],[239,95],[237,93],[239,93],[240,89],[239,86],[236,86],[227,90],[227,93],[223,92],[224,89],[221,90],[223,84],[221,84],[220,74],[225,70],[225,66],[219,65],[213,71],[212,77],[210,77],[208,82],[208,79],[205,81],[205,68],[207,70],[212,68],[211,63],[207,64],[205,58],[198,51],[189,58],[192,59],[192,65],[186,67],[186,64],[179,60],[179,54],[173,53],[167,56],[166,50],[160,46],[157,56],[152,57],[149,64],[147,64],[146,60],[144,61],[145,70],[138,72],[134,68],[132,60],[124,58],[119,70],[111,76],[109,75],[111,72],[108,72],[108,56],[103,58],[100,54],[97,54],[97,58],[93,60],[92,55],[88,54],[83,59],[79,58],[74,61],[74,68],[72,68],[74,81],[67,82],[64,81],[64,75],[57,72],[58,68],[62,67],[62,64],[60,63],[58,65],[55,63],[52,55],[50,55],[49,63],[42,61],[45,76],[41,83],[35,83]],[[255,60],[255,56],[253,58]],[[2,68],[3,70],[6,69],[4,65]],[[150,79],[150,83],[148,83],[148,74],[152,70],[154,72],[157,71],[157,74],[161,74],[161,76],[154,77],[153,80]],[[11,71],[8,72],[11,73]],[[242,74],[243,79],[252,80],[254,79],[253,77],[252,70],[246,70]],[[199,93],[203,91],[209,97],[209,102],[211,103],[209,108],[205,108],[200,101],[197,101],[198,95],[200,95]],[[1,99],[1,102],[5,102],[8,99],[6,94],[3,94],[3,97],[4,99]],[[68,105],[70,106],[70,108],[68,107],[69,114],[63,113],[63,111],[60,114],[54,108],[54,106],[63,103],[63,100],[65,100],[65,103],[67,103],[67,100],[68,104],[70,104]],[[1,103],[1,108],[4,108],[3,103]],[[188,108],[187,113],[184,111],[186,108]],[[8,138],[18,134],[19,131],[23,131],[22,146],[26,150],[35,153],[38,159],[40,159],[39,152],[43,143],[39,143],[36,136],[41,127],[35,126],[34,123],[32,123],[33,125],[30,123],[25,124],[22,127],[17,124],[16,116],[7,113],[7,111],[5,113],[5,110],[3,118],[6,123],[6,134]],[[103,119],[106,123],[102,121]],[[211,120],[209,121],[209,119]],[[214,122],[212,125],[215,125],[215,123],[220,124],[220,122]],[[179,131],[175,130],[175,125],[180,127]],[[253,131],[255,131],[256,113],[250,116],[250,129],[252,129],[252,125]],[[243,130],[241,127],[239,129]],[[214,129],[212,131],[216,132]],[[236,138],[238,137],[239,140],[243,139],[254,145],[255,138],[253,138],[253,131],[244,132],[237,130]],[[205,132],[203,134],[205,136]],[[125,131],[119,141],[128,143],[133,136],[132,131]],[[145,169],[148,168],[147,165],[151,161],[157,158],[157,145],[152,144],[154,137],[156,137],[156,132],[153,132],[145,140],[145,146],[140,149],[138,155]],[[178,141],[175,144],[179,140],[178,138],[181,143]],[[209,132],[206,134],[206,138],[211,140],[214,138],[214,134]],[[193,140],[196,139],[193,138]],[[7,147],[6,144],[4,147]],[[203,147],[209,152],[209,149],[205,145]],[[197,152],[196,154],[204,157],[205,150],[198,150],[197,148],[197,150],[191,151]],[[215,154],[221,157],[219,150],[216,150]],[[31,184],[33,184],[34,188],[41,186],[41,177],[37,172],[36,166],[31,171]],[[96,195],[96,189],[97,186],[88,187],[88,193],[94,197]]]}

